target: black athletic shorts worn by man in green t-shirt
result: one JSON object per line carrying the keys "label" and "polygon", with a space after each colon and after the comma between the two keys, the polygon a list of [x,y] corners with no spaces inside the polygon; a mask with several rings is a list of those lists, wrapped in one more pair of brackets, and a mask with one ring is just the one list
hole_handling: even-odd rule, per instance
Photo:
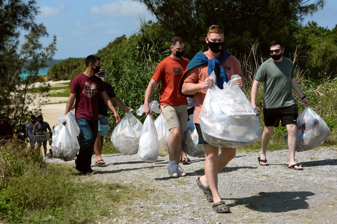
{"label": "black athletic shorts worn by man in green t-shirt", "polygon": [[282,108],[263,108],[263,116],[265,126],[278,127],[281,120],[281,125],[284,127],[287,124],[297,123],[298,110],[296,104]]}

